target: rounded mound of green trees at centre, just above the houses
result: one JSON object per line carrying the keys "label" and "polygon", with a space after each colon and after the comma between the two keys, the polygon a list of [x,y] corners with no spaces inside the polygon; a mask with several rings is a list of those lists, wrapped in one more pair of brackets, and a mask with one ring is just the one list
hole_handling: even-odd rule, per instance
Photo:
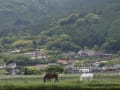
{"label": "rounded mound of green trees at centre, just above the houses", "polygon": [[46,43],[46,49],[48,50],[61,50],[61,51],[68,51],[68,50],[78,50],[80,47],[74,44],[71,40],[71,37],[67,34],[62,34],[57,37],[52,37]]}

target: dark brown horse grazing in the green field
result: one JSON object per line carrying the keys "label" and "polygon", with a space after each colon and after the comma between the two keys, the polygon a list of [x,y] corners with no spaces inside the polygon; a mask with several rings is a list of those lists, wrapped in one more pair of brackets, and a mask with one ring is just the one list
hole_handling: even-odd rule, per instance
{"label": "dark brown horse grazing in the green field", "polygon": [[46,81],[51,82],[51,79],[55,79],[55,82],[58,82],[58,74],[56,74],[56,73],[47,73],[47,74],[45,74],[44,82],[46,82]]}

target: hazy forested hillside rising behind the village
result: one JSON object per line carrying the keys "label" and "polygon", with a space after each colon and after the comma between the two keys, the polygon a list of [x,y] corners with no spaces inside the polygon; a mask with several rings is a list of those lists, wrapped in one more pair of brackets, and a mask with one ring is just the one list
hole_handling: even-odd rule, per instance
{"label": "hazy forested hillside rising behind the village", "polygon": [[120,0],[0,0],[0,47],[120,51]]}

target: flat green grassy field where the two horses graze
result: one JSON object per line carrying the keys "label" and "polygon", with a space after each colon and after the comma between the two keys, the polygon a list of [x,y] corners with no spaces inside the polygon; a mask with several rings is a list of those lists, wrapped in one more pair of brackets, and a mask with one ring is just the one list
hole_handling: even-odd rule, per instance
{"label": "flat green grassy field where the two horses graze", "polygon": [[96,74],[91,81],[79,75],[64,75],[59,82],[43,82],[43,76],[0,76],[0,90],[120,90],[120,76]]}

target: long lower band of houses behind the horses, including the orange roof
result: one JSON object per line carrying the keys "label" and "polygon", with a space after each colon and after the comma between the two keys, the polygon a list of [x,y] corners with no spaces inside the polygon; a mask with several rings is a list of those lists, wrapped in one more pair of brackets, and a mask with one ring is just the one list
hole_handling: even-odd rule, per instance
{"label": "long lower band of houses behind the horses, including the orange roof", "polygon": [[91,61],[86,60],[82,65],[76,65],[78,60],[74,60],[74,62],[69,62],[69,60],[58,60],[56,63],[48,63],[48,64],[38,64],[36,65],[36,69],[44,70],[45,68],[52,65],[61,65],[65,73],[78,74],[82,72],[120,72],[120,64],[114,64],[111,66],[100,66],[103,62],[109,61]]}

